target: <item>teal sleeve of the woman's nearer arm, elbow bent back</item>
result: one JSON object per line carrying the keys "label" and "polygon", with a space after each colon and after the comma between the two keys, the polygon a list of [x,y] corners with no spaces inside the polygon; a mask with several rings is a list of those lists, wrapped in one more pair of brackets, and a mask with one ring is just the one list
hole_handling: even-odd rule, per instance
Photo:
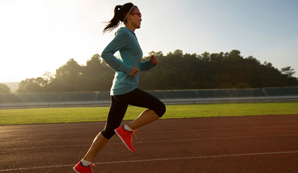
{"label": "teal sleeve of the woman's nearer arm, elbow bent back", "polygon": [[130,75],[133,66],[129,66],[114,56],[118,50],[125,49],[129,43],[128,31],[119,31],[115,38],[105,47],[101,58],[115,71]]}

